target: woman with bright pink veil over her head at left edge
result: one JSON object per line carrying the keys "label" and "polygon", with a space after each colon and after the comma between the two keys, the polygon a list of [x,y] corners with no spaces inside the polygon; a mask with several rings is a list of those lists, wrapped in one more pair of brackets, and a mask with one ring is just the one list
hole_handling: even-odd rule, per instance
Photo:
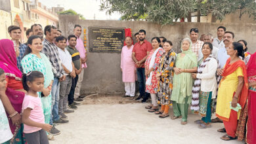
{"label": "woman with bright pink veil over her head at left edge", "polygon": [[22,101],[25,96],[21,78],[22,73],[17,67],[14,45],[9,39],[0,40],[0,68],[5,71],[7,89],[1,94],[1,101],[9,118],[9,125],[14,137],[13,143],[25,143],[23,125],[21,124]]}

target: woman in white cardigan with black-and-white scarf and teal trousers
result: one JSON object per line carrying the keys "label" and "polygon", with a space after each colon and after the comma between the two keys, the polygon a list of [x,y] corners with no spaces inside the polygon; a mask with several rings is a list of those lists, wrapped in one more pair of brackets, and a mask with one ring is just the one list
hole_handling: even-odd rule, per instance
{"label": "woman in white cardigan with black-and-white scarf and teal trousers", "polygon": [[192,73],[192,78],[196,79],[192,88],[191,109],[195,113],[200,113],[201,120],[196,120],[199,128],[211,128],[211,107],[212,99],[216,98],[217,81],[215,73],[218,67],[217,60],[211,56],[213,45],[206,42],[202,47],[203,58],[198,61],[197,73]]}

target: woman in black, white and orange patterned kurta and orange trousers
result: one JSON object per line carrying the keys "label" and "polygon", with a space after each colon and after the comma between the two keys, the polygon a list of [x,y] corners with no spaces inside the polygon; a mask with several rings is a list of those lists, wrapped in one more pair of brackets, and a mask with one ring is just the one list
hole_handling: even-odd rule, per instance
{"label": "woman in black, white and orange patterned kurta and orange trousers", "polygon": [[165,41],[163,43],[163,50],[165,54],[160,61],[160,67],[158,68],[158,96],[160,98],[161,110],[156,111],[155,114],[160,118],[168,117],[169,106],[171,105],[171,91],[173,90],[173,66],[177,54],[173,51],[173,43],[171,41]]}

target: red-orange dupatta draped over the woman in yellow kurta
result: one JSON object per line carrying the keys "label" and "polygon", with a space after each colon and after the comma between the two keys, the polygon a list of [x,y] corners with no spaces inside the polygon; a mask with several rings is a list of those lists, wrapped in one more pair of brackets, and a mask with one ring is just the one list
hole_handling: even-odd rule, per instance
{"label": "red-orange dupatta draped over the woman in yellow kurta", "polygon": [[[239,96],[238,103],[242,106],[242,109],[244,109],[245,102],[247,100],[247,95],[248,95],[248,80],[247,80],[247,72],[246,72],[246,67],[245,63],[243,60],[238,60],[232,64],[230,63],[230,58],[226,60],[226,65],[224,67],[224,72],[223,72],[223,79],[221,79],[221,82],[224,81],[225,77],[236,71],[238,67],[241,67],[244,73],[244,86],[242,88],[242,92]],[[220,83],[221,85],[221,83]]]}

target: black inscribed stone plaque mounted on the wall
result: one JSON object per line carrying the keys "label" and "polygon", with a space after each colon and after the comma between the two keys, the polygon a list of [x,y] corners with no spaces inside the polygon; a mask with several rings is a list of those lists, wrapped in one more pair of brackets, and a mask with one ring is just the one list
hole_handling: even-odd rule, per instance
{"label": "black inscribed stone plaque mounted on the wall", "polygon": [[115,27],[89,27],[90,52],[121,52],[125,29]]}

